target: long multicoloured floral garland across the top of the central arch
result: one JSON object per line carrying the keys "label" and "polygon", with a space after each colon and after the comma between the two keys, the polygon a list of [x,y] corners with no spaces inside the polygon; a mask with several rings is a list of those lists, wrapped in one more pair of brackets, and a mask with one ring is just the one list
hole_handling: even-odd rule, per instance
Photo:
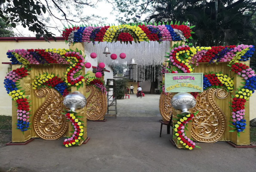
{"label": "long multicoloured floral garland across the top of the central arch", "polygon": [[191,28],[194,26],[188,27],[188,22],[182,23],[179,25],[173,22],[167,22],[167,25],[161,25],[160,22],[158,25],[154,23],[145,23],[141,24],[131,24],[131,25],[118,25],[118,26],[86,26],[83,25],[80,27],[65,28],[65,31],[62,33],[62,37],[68,43],[78,43],[78,42],[113,42],[120,41],[125,43],[140,43],[142,41],[179,41],[186,39],[192,39],[191,34],[194,32],[191,31]]}

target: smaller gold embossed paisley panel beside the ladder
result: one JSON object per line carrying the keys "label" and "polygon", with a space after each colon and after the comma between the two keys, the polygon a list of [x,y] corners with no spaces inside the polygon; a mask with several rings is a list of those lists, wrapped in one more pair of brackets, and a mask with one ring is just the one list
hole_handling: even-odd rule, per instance
{"label": "smaller gold embossed paisley panel beside the ladder", "polygon": [[86,102],[86,117],[88,120],[103,120],[107,112],[107,97],[94,86],[86,86],[86,93],[90,92]]}

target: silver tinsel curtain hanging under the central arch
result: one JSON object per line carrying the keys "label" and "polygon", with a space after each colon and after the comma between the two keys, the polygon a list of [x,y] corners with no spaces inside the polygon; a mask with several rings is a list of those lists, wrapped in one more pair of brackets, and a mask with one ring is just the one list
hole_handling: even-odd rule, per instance
{"label": "silver tinsel curtain hanging under the central arch", "polygon": [[[104,52],[104,48],[106,46],[108,46],[111,54],[117,55],[116,60],[112,60],[110,58],[111,54],[106,57],[105,54],[102,53]],[[84,50],[87,58],[90,58],[90,54],[92,52],[95,52],[97,54],[96,59],[98,60],[98,62],[103,62],[106,65],[129,64],[131,58],[134,58],[137,63],[134,70],[135,74],[138,74],[139,78],[137,77],[137,75],[133,78],[136,78],[136,80],[144,81],[146,77],[149,78],[150,81],[155,81],[155,77],[153,78],[153,76],[159,77],[160,70],[159,68],[157,69],[154,66],[161,65],[166,59],[164,56],[166,55],[165,52],[170,52],[170,42],[163,41],[162,43],[158,43],[155,41],[150,41],[149,43],[141,42],[133,44],[121,44],[119,41],[117,41],[116,43],[96,43],[94,46],[93,43],[84,43]],[[122,52],[126,54],[125,59],[121,59],[119,57],[120,53]],[[146,66],[151,66],[150,71],[147,72],[147,75],[149,76],[145,76]]]}

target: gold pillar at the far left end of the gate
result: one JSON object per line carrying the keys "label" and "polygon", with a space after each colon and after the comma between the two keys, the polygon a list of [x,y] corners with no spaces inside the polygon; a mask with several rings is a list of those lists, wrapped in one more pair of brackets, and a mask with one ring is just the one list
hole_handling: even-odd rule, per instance
{"label": "gold pillar at the far left end of the gate", "polygon": [[[20,67],[20,64],[12,64],[12,70]],[[25,90],[25,97],[28,96],[28,101],[31,101],[31,71],[28,71],[28,73],[29,75],[27,77],[19,80],[19,87],[22,87],[22,89]],[[30,125],[29,129],[25,131],[24,134],[20,129],[17,129],[17,107],[15,105],[16,101],[12,101],[12,142],[25,142],[31,139],[31,127],[33,127],[33,125]],[[33,119],[30,117],[30,122],[32,123],[32,121]]]}

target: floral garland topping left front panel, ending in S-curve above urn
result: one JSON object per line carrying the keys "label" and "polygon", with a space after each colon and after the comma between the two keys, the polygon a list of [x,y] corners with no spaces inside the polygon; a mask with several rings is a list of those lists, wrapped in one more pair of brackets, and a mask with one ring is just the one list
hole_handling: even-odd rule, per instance
{"label": "floral garland topping left front panel, ending in S-curve above urn", "polygon": [[65,73],[65,83],[68,86],[83,86],[84,76],[81,76],[84,67],[82,52],[70,49],[15,49],[8,50],[8,57],[12,58],[12,64],[68,64]]}

